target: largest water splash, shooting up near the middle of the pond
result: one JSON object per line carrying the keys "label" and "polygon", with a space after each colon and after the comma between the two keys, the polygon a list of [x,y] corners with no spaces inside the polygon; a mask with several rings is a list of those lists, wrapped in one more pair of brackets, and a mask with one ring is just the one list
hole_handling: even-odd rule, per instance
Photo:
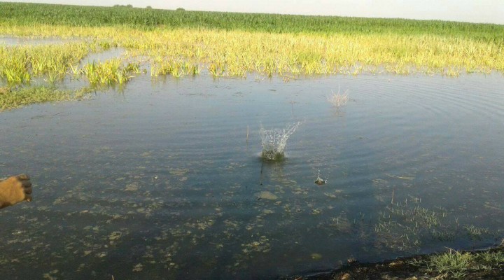
{"label": "largest water splash, shooting up near the middle of the pond", "polygon": [[259,134],[261,137],[262,144],[262,159],[264,160],[281,160],[283,159],[285,148],[287,146],[287,140],[292,135],[300,122],[293,125],[287,125],[282,129],[265,130],[264,127],[260,127]]}

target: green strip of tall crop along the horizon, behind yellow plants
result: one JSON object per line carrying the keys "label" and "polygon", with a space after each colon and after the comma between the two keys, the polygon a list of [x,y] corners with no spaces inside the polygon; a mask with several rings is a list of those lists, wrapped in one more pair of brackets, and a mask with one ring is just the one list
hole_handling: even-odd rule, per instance
{"label": "green strip of tall crop along the horizon, behind yellow plants", "polygon": [[472,38],[502,45],[504,26],[463,22],[335,16],[221,13],[151,8],[68,6],[35,3],[0,3],[1,25],[66,25],[136,29],[204,28],[272,33],[416,34]]}

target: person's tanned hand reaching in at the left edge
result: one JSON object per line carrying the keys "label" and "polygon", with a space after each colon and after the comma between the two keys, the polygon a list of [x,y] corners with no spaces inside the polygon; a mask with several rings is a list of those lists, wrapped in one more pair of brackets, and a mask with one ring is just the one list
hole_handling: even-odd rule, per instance
{"label": "person's tanned hand reaching in at the left edge", "polygon": [[29,176],[20,174],[0,181],[0,209],[23,201],[31,202]]}

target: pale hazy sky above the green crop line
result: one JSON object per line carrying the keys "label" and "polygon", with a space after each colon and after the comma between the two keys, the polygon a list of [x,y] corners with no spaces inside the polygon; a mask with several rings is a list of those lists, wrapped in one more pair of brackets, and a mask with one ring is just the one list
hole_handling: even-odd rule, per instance
{"label": "pale hazy sky above the green crop line", "polygon": [[[3,1],[3,0],[0,0]],[[454,20],[504,25],[504,0],[10,0],[86,6],[218,10],[244,13],[342,15],[365,18]]]}

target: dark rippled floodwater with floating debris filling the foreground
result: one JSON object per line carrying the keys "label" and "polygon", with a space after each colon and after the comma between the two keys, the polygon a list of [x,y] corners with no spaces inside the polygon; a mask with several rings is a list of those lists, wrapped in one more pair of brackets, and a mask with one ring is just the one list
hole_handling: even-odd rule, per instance
{"label": "dark rippled floodwater with floating debris filling the foreground", "polygon": [[[0,174],[34,183],[33,202],[0,211],[0,274],[274,279],[490,246],[504,225],[503,82],[141,76],[0,113]],[[335,109],[338,87],[351,100]],[[260,125],[297,121],[286,160],[263,164]]]}

